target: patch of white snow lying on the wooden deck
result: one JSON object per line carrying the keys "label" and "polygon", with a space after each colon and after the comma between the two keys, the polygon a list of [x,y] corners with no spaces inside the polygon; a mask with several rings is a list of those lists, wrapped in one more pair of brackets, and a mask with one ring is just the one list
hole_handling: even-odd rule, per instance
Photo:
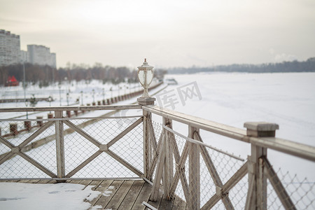
{"label": "patch of white snow lying on the wooden deck", "polygon": [[89,209],[91,205],[83,200],[91,201],[101,193],[92,187],[72,183],[0,183],[0,209]]}

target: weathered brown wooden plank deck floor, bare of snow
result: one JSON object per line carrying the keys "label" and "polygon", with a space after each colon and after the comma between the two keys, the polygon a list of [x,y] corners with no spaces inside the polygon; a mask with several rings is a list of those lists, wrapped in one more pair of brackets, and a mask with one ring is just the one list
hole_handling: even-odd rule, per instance
{"label": "weathered brown wooden plank deck floor, bare of snow", "polygon": [[[0,180],[1,181],[1,180]],[[1,181],[3,182],[3,180]],[[18,183],[57,183],[54,180],[11,180],[6,182],[18,182]],[[180,198],[173,201],[164,200],[162,193],[159,195],[157,202],[151,202],[149,197],[151,196],[152,186],[143,180],[71,180],[66,183],[78,183],[86,186],[94,186],[92,190],[102,192],[98,197],[94,198],[90,202],[92,207],[102,206],[102,209],[121,209],[121,210],[138,210],[149,209],[145,207],[142,202],[146,202],[156,209],[160,210],[175,210],[186,209],[186,202],[183,202]],[[105,196],[104,192],[111,190],[113,193]],[[88,202],[85,200],[85,202]],[[101,209],[101,208],[99,208]]]}

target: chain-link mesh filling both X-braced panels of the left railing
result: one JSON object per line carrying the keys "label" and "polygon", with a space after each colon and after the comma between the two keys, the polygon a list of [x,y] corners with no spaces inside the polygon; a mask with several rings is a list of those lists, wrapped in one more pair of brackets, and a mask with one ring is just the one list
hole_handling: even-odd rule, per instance
{"label": "chain-link mesh filling both X-braced panels of the left railing", "polygon": [[[0,161],[2,161],[0,164],[0,179],[40,179],[50,178],[57,174],[55,120],[40,120],[40,123],[37,120],[28,120],[28,122],[30,126],[29,124],[27,126],[31,128],[27,130],[23,127],[25,122],[22,120],[9,120],[9,123],[6,121],[0,122],[0,127],[3,127],[1,129],[2,141],[8,142],[7,144],[0,142]],[[84,165],[84,167],[82,166],[71,177],[127,178],[139,177],[139,173],[143,172],[141,118],[70,118],[63,120],[63,122],[65,174],[69,174],[80,165]],[[80,131],[73,130],[73,127],[66,124],[66,122],[69,122],[70,125]],[[45,127],[47,123],[50,123],[49,127]],[[121,134],[130,126],[133,127],[128,132]],[[45,130],[43,130],[43,127]],[[37,133],[39,134],[37,135]],[[19,151],[16,151],[17,146],[34,134],[36,134],[34,139],[31,139],[25,146],[20,146]],[[86,138],[82,134],[86,134],[90,138]],[[107,146],[113,139],[117,140],[111,146]],[[94,153],[99,152],[102,147],[107,148],[103,149],[96,158],[87,164],[83,164]],[[107,154],[106,151],[109,151],[111,155]],[[10,157],[7,158],[7,155]],[[25,157],[28,160],[25,160]],[[117,159],[125,162],[125,165],[134,167],[139,173],[134,174]],[[34,162],[35,165],[45,168],[45,172],[35,167]]]}

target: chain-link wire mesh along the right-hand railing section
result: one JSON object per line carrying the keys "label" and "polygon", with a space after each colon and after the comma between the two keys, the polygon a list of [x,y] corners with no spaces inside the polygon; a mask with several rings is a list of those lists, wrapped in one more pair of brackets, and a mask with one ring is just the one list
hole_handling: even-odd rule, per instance
{"label": "chain-link wire mesh along the right-hand railing section", "polygon": [[[163,129],[160,123],[153,122],[153,129],[154,132],[151,131],[151,135],[160,137],[162,132],[165,132],[165,141],[174,141],[175,143],[172,148],[172,158],[175,169],[174,173],[171,174],[173,182],[175,179],[179,181],[175,185],[171,183],[170,192],[174,190],[172,187],[175,187],[174,192],[176,196],[181,197],[187,204],[189,200],[192,201],[193,204],[191,204],[192,206],[188,204],[188,209],[193,209],[194,205],[199,205],[197,209],[204,207],[204,205],[205,207],[209,207],[209,209],[228,209],[229,205],[234,207],[234,209],[245,209],[248,194],[247,170],[246,175],[242,176],[228,192],[224,193],[221,192],[221,190],[223,190],[223,186],[228,181],[232,180],[232,176],[235,176],[235,173],[237,173],[241,167],[247,165],[246,161],[233,158],[230,155],[221,153],[212,148],[204,147],[204,150],[202,150],[203,146],[199,146],[200,149],[199,151],[197,150],[199,154],[197,154],[197,159],[195,159],[196,157],[190,156],[193,155],[193,152],[190,151],[193,151],[191,148],[193,144],[188,143],[187,138],[180,137],[176,132]],[[189,148],[185,148],[186,144],[188,144]],[[163,148],[158,152],[161,153],[162,149]],[[176,153],[179,155],[179,160],[177,161]],[[194,158],[192,160],[196,160],[196,162],[190,162],[190,157]],[[193,167],[193,172],[191,173],[189,172],[190,167]],[[176,171],[181,172],[182,176],[179,176],[179,178],[176,177]],[[157,173],[156,170],[155,173]],[[192,175],[199,173],[200,177]],[[281,170],[275,174],[279,176],[279,181],[281,182],[276,183],[276,185],[283,186],[283,190],[286,191],[288,195],[288,197],[284,197],[282,200],[286,202],[291,200],[296,209],[315,209],[314,182],[310,182],[307,179],[301,180],[297,175],[290,176],[288,172],[283,174]],[[265,174],[265,177],[267,177],[267,174]],[[190,179],[193,180],[190,181]],[[286,209],[283,207],[279,195],[276,194],[274,190],[275,187],[272,186],[269,179],[267,179],[267,209]],[[163,180],[161,183],[165,184]],[[199,186],[192,186],[192,183],[199,183]],[[276,188],[279,188],[279,186]],[[196,190],[196,192],[193,190]],[[283,195],[284,193],[280,192],[280,194]],[[216,200],[216,202],[213,202],[214,200]],[[211,202],[212,205],[210,205]]]}

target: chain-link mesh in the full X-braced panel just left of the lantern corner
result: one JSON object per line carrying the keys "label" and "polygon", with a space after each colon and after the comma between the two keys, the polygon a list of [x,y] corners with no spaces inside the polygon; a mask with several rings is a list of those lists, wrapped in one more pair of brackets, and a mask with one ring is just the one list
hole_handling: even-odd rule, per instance
{"label": "chain-link mesh in the full X-braced panel just left of the lantern corner", "polygon": [[[137,118],[126,119],[102,119],[83,127],[83,131],[94,138],[100,144],[109,144],[109,142],[118,136],[121,132],[135,123]],[[71,120],[71,123],[82,127],[87,124],[87,120]],[[143,140],[142,123],[134,127],[125,134],[115,144],[109,147],[109,150],[123,158],[139,171],[143,171]],[[64,136],[64,153],[66,162],[66,174],[76,169],[78,165],[90,158],[99,147],[91,141],[85,139],[78,132],[73,132]],[[117,160],[106,153],[102,153],[87,164],[83,169],[74,174],[73,177],[80,178],[112,178],[112,177],[137,177],[133,172],[126,169]]]}

